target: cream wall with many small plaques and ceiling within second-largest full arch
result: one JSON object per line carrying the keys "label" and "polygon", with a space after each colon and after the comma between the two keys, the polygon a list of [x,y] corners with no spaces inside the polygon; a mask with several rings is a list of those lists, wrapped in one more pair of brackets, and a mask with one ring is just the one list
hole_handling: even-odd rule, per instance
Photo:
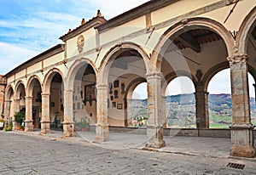
{"label": "cream wall with many small plaques and ceiling within second-largest full arch", "polygon": [[132,92],[135,85],[146,82],[143,57],[133,48],[122,48],[108,61],[108,123],[114,127],[131,124]]}

